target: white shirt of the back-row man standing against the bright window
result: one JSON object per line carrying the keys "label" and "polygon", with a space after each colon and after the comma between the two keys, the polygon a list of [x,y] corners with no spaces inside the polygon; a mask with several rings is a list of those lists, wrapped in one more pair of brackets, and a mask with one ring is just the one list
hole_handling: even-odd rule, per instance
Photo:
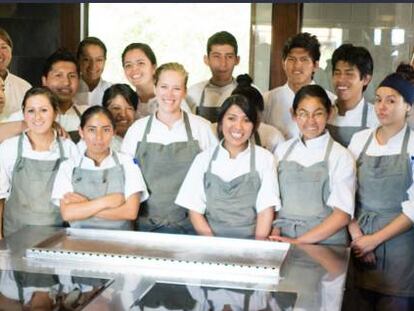
{"label": "white shirt of the back-row man standing against the bright window", "polygon": [[208,81],[201,81],[192,85],[187,92],[187,102],[193,113],[196,107],[200,106],[201,94],[204,91],[203,106],[205,107],[221,107],[224,100],[231,95],[233,90],[237,87],[235,79],[230,84],[225,86],[217,86]]}

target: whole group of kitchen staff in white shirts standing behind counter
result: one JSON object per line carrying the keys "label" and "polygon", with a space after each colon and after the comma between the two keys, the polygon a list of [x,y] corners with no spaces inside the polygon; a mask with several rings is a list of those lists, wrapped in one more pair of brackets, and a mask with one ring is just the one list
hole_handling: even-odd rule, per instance
{"label": "whole group of kitchen staff in white shirts standing behind counter", "polygon": [[371,104],[372,57],[343,44],[333,94],[312,80],[316,36],[300,33],[282,51],[286,84],[262,95],[233,77],[237,41],[222,31],[207,42],[212,77],[188,90],[182,65],[129,44],[133,90],[102,79],[106,48],[88,37],[77,58],[53,53],[16,104],[12,48],[0,29],[2,236],[51,225],[350,245],[361,299],[413,307],[410,65]]}

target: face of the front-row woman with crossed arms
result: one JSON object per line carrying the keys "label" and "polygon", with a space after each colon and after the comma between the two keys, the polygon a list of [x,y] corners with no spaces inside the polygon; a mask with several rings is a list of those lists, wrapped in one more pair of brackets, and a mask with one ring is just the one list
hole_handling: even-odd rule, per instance
{"label": "face of the front-row woman with crossed arms", "polygon": [[109,153],[114,129],[111,120],[103,113],[92,115],[79,130],[85,141],[87,155],[92,159],[99,159]]}

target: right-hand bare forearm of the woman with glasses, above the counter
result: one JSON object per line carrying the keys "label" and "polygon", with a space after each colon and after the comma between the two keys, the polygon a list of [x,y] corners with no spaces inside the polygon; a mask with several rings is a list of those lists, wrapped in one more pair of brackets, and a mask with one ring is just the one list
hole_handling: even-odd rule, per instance
{"label": "right-hand bare forearm of the woman with glasses, above the counter", "polygon": [[349,224],[350,216],[345,212],[334,209],[321,224],[315,226],[298,238],[300,243],[318,243],[323,241]]}

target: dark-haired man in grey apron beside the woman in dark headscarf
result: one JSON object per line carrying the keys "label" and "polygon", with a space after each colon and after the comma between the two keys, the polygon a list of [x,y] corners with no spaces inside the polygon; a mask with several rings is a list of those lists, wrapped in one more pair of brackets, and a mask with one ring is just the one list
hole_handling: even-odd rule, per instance
{"label": "dark-haired man in grey apron beside the woman in dark headscarf", "polygon": [[352,44],[337,48],[331,62],[332,84],[338,98],[328,129],[333,139],[347,147],[354,133],[378,125],[373,105],[364,99],[374,63],[366,48]]}

